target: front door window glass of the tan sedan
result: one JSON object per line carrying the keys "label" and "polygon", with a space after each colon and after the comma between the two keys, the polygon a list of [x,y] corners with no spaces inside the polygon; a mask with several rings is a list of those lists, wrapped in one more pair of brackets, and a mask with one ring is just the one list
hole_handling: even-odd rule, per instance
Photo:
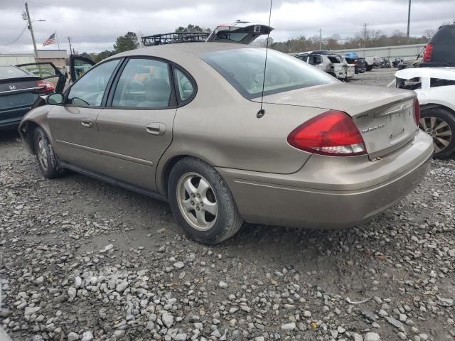
{"label": "front door window glass of the tan sedan", "polygon": [[100,107],[107,82],[118,63],[118,59],[102,63],[77,80],[70,89],[67,104],[77,107]]}

